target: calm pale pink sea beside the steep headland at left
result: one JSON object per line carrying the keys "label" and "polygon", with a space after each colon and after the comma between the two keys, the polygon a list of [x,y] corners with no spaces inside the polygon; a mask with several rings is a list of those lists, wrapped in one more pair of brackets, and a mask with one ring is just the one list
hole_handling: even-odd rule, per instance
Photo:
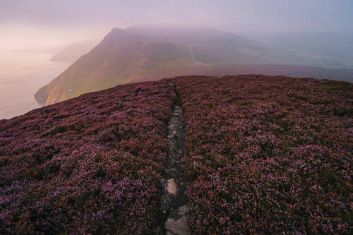
{"label": "calm pale pink sea beside the steep headland at left", "polygon": [[73,62],[49,61],[52,54],[0,53],[0,119],[37,109],[35,92]]}

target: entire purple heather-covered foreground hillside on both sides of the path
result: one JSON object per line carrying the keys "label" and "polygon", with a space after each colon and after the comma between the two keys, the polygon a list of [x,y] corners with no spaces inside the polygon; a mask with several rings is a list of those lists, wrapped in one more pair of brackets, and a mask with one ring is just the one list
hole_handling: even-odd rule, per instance
{"label": "entire purple heather-covered foreground hillside on both sides of the path", "polygon": [[352,234],[353,85],[185,76],[0,121],[0,234],[152,234],[184,112],[191,234]]}

